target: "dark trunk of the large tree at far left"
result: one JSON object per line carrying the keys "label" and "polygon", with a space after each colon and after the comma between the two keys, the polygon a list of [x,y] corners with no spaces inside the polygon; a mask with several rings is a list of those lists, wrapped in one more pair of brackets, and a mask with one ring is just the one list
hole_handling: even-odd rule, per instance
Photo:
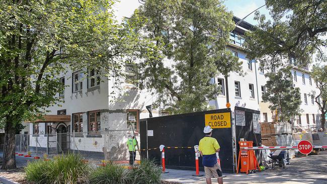
{"label": "dark trunk of the large tree at far left", "polygon": [[5,127],[5,145],[2,169],[16,168],[15,155],[15,129],[10,126],[12,123],[7,122]]}

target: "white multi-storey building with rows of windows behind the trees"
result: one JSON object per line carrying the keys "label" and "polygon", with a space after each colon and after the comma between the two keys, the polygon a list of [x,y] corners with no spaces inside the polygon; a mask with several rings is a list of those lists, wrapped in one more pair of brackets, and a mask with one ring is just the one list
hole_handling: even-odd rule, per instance
{"label": "white multi-storey building with rows of windows behind the trees", "polygon": [[[132,15],[133,11],[140,6],[139,1],[121,1],[115,5],[116,17],[121,20]],[[240,19],[234,17],[235,23]],[[246,53],[241,51],[244,40],[239,37],[244,32],[250,31],[252,25],[242,21],[230,33],[231,43],[227,49],[242,61],[243,71],[246,75],[240,76],[231,72],[228,77],[218,75],[214,82],[222,86],[221,94],[217,94],[216,100],[209,104],[217,109],[225,108],[227,94],[233,110],[235,106],[258,110],[261,112],[261,122],[271,122],[274,112],[268,108],[267,103],[262,102],[262,95],[266,93],[265,71],[260,69],[256,60],[246,58]],[[84,76],[84,72],[88,73]],[[58,76],[68,87],[63,94],[64,103],[59,106],[48,108],[50,111],[45,119],[38,121],[39,124],[29,124],[22,133],[51,133],[55,130],[63,132],[96,132],[114,129],[129,129],[131,126],[138,130],[138,122],[146,118],[149,113],[145,106],[155,101],[155,96],[147,90],[139,90],[133,84],[135,77],[133,65],[125,65],[126,80],[123,85],[124,91],[118,96],[118,101],[112,101],[110,93],[113,90],[111,80],[100,76],[96,69],[68,70],[65,75]],[[319,111],[317,105],[312,102],[312,90],[315,89],[314,81],[310,77],[309,68],[297,68],[294,66],[294,83],[300,87],[302,96],[301,116],[297,117],[298,125],[319,124]],[[123,93],[128,94],[124,96]],[[153,116],[165,114],[159,109],[152,110]],[[52,116],[50,116],[52,115]]]}

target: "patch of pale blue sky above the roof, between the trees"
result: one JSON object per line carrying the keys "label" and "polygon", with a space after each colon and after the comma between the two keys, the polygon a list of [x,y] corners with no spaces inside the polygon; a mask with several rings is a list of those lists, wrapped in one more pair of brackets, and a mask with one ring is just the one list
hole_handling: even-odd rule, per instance
{"label": "patch of pale blue sky above the roof, between the trees", "polygon": [[[225,0],[224,5],[227,7],[228,11],[231,11],[234,16],[242,19],[257,8],[265,5],[264,0]],[[265,7],[259,9],[261,14],[265,14],[266,18],[269,18],[269,10]],[[253,20],[255,13],[251,14],[245,19],[245,21],[257,25],[258,22]]]}

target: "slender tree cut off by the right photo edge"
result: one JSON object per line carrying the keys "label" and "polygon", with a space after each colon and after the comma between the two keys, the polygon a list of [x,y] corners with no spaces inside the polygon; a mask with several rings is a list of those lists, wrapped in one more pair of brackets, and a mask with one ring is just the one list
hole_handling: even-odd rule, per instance
{"label": "slender tree cut off by the right photo edge", "polygon": [[[320,55],[318,58],[324,62],[327,61],[325,56]],[[311,76],[314,79],[316,88],[319,90],[316,96],[315,91],[312,91],[312,94],[315,96],[315,103],[321,112],[321,128],[324,130],[325,114],[327,113],[327,65],[313,65]]]}

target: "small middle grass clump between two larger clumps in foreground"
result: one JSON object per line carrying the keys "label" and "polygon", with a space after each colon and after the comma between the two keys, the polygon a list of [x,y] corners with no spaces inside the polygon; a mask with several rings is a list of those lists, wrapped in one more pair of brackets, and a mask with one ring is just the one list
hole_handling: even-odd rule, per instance
{"label": "small middle grass clump between two larger clumps in foreground", "polygon": [[124,184],[127,182],[127,170],[120,165],[108,163],[90,174],[91,184]]}

